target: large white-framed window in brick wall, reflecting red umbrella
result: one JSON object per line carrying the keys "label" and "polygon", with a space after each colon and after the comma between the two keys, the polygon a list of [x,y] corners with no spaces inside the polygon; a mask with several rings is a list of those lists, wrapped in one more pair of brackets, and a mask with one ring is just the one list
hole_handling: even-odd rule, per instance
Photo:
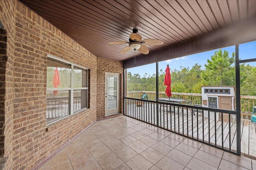
{"label": "large white-framed window in brick wall, reflecting red umbrella", "polygon": [[46,122],[72,115],[88,106],[88,69],[48,55]]}

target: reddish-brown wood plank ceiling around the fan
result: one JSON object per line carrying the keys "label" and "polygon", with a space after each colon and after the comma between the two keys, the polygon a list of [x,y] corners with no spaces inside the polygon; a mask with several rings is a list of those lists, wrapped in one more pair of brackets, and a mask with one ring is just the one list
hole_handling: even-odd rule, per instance
{"label": "reddish-brown wood plank ceiling around the fan", "polygon": [[20,0],[97,57],[124,61],[142,55],[120,51],[136,27],[142,39],[159,39],[150,53],[255,20],[256,0]]}

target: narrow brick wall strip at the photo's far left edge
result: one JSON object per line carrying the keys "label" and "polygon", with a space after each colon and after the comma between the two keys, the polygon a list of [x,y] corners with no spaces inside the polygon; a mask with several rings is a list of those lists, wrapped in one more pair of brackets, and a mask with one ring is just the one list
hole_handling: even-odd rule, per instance
{"label": "narrow brick wall strip at the photo's far left edge", "polygon": [[[6,12],[8,11],[8,12]],[[4,157],[7,158],[4,164],[1,164],[0,169],[11,169],[12,167],[12,127],[13,127],[13,61],[14,61],[14,19],[15,2],[14,1],[0,1],[0,21],[6,29],[7,43],[6,43],[6,70],[5,70],[5,102],[4,105]],[[2,65],[3,66],[3,65]],[[1,163],[4,163],[1,161]]]}

